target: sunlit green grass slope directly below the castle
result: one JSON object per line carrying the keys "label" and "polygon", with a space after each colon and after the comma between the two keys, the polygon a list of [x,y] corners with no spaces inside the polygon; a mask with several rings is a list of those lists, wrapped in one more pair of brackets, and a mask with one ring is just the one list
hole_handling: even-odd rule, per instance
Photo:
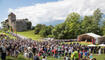
{"label": "sunlit green grass slope directly below the castle", "polygon": [[42,37],[40,37],[40,35],[35,35],[34,34],[34,30],[30,30],[30,31],[24,31],[24,32],[17,32],[17,34],[20,34],[22,36],[25,36],[25,37],[28,37],[28,38],[31,38],[33,40],[40,40],[42,39]]}

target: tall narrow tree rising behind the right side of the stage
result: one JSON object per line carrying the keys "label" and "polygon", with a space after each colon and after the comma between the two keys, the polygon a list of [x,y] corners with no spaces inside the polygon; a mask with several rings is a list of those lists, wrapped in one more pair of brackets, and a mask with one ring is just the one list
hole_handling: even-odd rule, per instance
{"label": "tall narrow tree rising behind the right side of the stage", "polygon": [[92,28],[94,28],[94,33],[99,34],[99,35],[102,35],[102,30],[99,24],[99,22],[102,19],[102,15],[103,13],[100,11],[99,8],[93,12],[93,24],[92,24],[93,27]]}

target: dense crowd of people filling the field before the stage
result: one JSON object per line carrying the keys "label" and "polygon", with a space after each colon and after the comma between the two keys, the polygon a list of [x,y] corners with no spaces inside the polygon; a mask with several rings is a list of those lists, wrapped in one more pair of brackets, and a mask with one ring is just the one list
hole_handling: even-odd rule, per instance
{"label": "dense crowd of people filling the field before the stage", "polygon": [[93,54],[105,54],[105,47],[88,47],[79,43],[65,44],[57,41],[34,41],[26,39],[0,39],[0,56],[18,57],[22,54],[27,59],[47,60],[48,56],[63,60],[96,60]]}

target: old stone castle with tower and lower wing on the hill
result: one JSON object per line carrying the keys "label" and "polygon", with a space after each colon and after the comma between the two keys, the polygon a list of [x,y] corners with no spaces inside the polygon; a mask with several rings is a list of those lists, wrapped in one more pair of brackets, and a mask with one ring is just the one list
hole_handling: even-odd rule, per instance
{"label": "old stone castle with tower and lower wing on the hill", "polygon": [[8,19],[5,20],[9,27],[15,29],[16,31],[25,31],[31,29],[32,23],[28,19],[16,19],[14,13],[8,15]]}

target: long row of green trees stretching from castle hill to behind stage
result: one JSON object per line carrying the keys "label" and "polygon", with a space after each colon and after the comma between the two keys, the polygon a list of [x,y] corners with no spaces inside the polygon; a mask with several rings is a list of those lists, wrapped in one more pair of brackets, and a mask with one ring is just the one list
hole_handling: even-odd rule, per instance
{"label": "long row of green trees stretching from castle hill to behind stage", "polygon": [[70,13],[66,20],[56,26],[46,26],[37,24],[34,29],[35,34],[42,37],[56,39],[73,39],[84,33],[95,33],[105,35],[105,20],[100,9],[96,9],[92,15],[81,17],[78,13]]}

